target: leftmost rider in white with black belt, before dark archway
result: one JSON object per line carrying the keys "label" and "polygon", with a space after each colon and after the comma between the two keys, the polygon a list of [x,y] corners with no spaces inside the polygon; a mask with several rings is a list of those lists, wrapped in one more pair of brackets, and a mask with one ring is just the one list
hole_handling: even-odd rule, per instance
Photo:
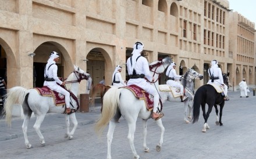
{"label": "leftmost rider in white with black belt, before dark archway", "polygon": [[[47,64],[44,70],[44,86],[48,86],[49,89],[52,91],[56,91],[65,95],[65,103],[66,103],[66,113],[70,113],[70,93],[66,91],[66,89],[62,88],[60,85],[65,85],[65,82],[59,80],[57,76],[58,66],[56,62],[59,61],[59,53],[52,52],[51,56],[49,57]],[[57,84],[58,83],[58,84]]]}

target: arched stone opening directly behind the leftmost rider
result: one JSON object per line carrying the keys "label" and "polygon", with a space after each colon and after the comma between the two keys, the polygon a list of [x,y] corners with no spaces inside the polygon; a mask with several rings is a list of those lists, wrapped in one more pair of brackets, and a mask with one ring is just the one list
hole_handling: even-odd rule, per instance
{"label": "arched stone opening directly behind the leftmost rider", "polygon": [[58,66],[58,76],[67,78],[69,73],[73,70],[73,62],[70,57],[72,53],[68,53],[65,46],[56,41],[41,41],[35,48],[33,61],[33,86],[41,87],[44,84],[44,67],[47,64],[51,52],[58,52],[60,54]]}

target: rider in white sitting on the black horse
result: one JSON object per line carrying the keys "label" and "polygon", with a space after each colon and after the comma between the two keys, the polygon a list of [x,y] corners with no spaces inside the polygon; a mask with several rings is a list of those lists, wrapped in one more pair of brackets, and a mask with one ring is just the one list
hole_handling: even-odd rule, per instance
{"label": "rider in white sitting on the black horse", "polygon": [[229,97],[227,97],[227,85],[224,84],[223,82],[223,77],[222,77],[222,71],[221,68],[218,67],[218,62],[217,60],[212,60],[212,66],[211,68],[208,69],[208,74],[210,77],[210,80],[208,81],[207,84],[216,84],[218,86],[221,86],[224,88],[224,100],[229,100]]}

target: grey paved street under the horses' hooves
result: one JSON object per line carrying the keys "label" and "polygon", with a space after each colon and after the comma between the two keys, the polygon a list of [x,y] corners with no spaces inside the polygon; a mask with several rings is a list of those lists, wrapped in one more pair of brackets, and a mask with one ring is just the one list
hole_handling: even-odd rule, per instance
{"label": "grey paved street under the horses' hooves", "polygon": [[[162,150],[157,152],[159,128],[153,120],[148,120],[147,144],[149,153],[143,151],[143,128],[137,121],[134,144],[141,158],[255,158],[256,156],[256,96],[251,90],[250,97],[240,98],[240,92],[229,91],[230,101],[223,109],[223,127],[215,125],[213,109],[208,119],[210,129],[202,133],[204,124],[202,113],[196,124],[183,121],[183,103],[164,103],[162,118],[165,127]],[[20,118],[13,118],[8,128],[0,120],[0,158],[106,158],[107,144],[105,129],[101,138],[94,132],[94,122],[100,115],[99,104],[94,111],[76,113],[79,127],[74,139],[64,138],[66,133],[65,116],[48,114],[41,125],[45,146],[39,143],[33,129],[35,118],[31,118],[28,137],[32,149],[26,149]],[[112,158],[133,158],[127,139],[128,127],[121,118],[116,126],[112,142]]]}

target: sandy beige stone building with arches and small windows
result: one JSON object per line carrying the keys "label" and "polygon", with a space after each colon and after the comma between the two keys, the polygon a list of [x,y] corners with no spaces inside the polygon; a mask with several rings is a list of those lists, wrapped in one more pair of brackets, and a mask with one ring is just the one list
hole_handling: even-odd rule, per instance
{"label": "sandy beige stone building with arches and small windows", "polygon": [[[0,0],[0,75],[8,88],[44,82],[49,54],[61,54],[59,76],[73,64],[97,84],[111,84],[116,65],[125,67],[133,45],[144,44],[149,62],[170,56],[184,74],[189,67],[208,81],[216,59],[236,85],[241,78],[255,86],[255,24],[229,9],[226,0]],[[32,54],[35,56],[31,56]],[[30,55],[30,56],[28,56]],[[127,77],[122,71],[123,78]],[[165,84],[165,77],[160,83]],[[80,93],[86,82],[82,82]]]}

